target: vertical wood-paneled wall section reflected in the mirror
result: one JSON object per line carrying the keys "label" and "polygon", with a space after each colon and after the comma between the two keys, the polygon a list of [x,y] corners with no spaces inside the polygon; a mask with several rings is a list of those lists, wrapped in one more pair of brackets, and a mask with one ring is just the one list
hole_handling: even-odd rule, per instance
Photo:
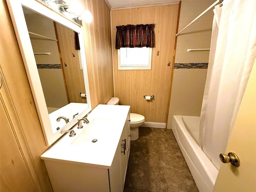
{"label": "vertical wood-paneled wall section reflected in the mirror", "polygon": [[79,51],[75,50],[74,31],[58,23],[55,23],[55,25],[69,102],[87,103],[86,98],[79,95],[81,92],[85,94],[86,91],[84,72],[80,67]]}

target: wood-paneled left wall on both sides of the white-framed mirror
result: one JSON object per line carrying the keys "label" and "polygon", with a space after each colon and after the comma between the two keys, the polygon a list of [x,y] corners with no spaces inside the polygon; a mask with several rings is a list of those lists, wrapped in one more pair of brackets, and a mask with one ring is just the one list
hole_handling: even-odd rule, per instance
{"label": "wood-paneled left wall on both sides of the white-framed mirror", "polygon": [[[80,1],[85,4],[85,0]],[[94,108],[114,96],[110,10],[103,0],[87,3],[94,16],[89,28],[86,24],[83,27],[87,31],[86,59]],[[0,89],[0,191],[52,192],[40,159],[48,146],[5,0],[0,1],[0,16],[0,69],[4,78]]]}

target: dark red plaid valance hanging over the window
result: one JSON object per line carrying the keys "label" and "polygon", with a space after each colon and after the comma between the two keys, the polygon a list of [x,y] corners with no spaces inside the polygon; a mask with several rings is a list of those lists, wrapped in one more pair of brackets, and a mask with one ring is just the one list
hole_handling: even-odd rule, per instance
{"label": "dark red plaid valance hanging over the window", "polygon": [[116,49],[154,47],[154,24],[116,26]]}

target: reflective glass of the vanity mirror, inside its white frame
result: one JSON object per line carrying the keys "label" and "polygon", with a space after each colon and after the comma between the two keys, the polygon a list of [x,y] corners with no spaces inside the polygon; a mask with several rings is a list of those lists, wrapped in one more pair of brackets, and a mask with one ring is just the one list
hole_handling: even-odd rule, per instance
{"label": "reflective glass of the vanity mirror, inside its white frame", "polygon": [[[65,126],[64,108],[72,103],[80,103],[64,117],[72,120],[87,108],[83,68],[80,50],[75,48],[75,32],[42,16],[26,7],[22,7],[30,40],[34,51],[36,66],[40,76],[44,98],[50,117],[53,134]],[[68,105],[68,106],[66,106]],[[64,107],[65,106],[65,107]],[[64,108],[62,108],[64,107]],[[60,109],[62,108],[62,109]]]}

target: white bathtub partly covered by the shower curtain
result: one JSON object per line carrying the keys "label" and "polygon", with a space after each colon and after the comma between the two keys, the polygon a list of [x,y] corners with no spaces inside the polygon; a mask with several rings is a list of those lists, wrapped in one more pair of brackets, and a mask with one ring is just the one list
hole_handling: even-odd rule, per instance
{"label": "white bathtub partly covered by the shower curtain", "polygon": [[172,132],[200,192],[211,192],[218,169],[199,146],[198,116],[174,115]]}

